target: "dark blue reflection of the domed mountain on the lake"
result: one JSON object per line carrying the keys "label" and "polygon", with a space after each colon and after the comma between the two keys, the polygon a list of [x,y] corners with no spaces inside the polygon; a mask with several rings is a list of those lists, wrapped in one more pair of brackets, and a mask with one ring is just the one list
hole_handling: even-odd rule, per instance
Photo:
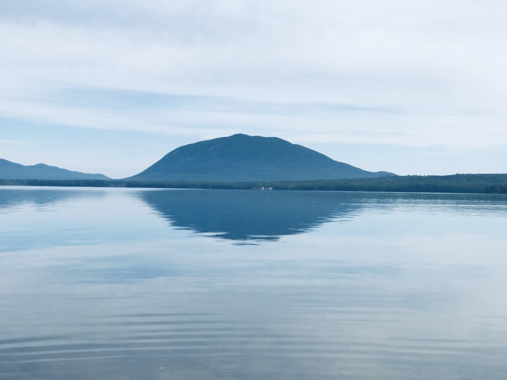
{"label": "dark blue reflection of the domed mountain on the lake", "polygon": [[138,195],[174,227],[230,240],[277,240],[348,219],[361,208],[343,193],[172,189]]}

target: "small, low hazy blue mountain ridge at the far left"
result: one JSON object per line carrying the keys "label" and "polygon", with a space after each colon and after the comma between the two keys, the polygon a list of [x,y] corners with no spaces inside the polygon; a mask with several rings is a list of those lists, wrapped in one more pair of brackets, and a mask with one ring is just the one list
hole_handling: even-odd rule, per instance
{"label": "small, low hazy blue mountain ridge at the far left", "polygon": [[0,159],[0,178],[3,179],[111,179],[103,174],[87,174],[60,169],[45,164],[21,165]]}

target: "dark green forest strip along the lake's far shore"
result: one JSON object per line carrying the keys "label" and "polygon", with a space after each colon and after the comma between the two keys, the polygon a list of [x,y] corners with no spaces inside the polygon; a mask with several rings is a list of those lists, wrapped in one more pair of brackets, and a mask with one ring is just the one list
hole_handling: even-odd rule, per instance
{"label": "dark green forest strip along the lake's far shore", "polygon": [[7,180],[0,185],[158,187],[158,188],[273,188],[275,190],[484,193],[507,194],[507,174],[454,174],[445,176],[391,176],[312,181],[203,182],[203,181],[124,181],[124,180]]}

